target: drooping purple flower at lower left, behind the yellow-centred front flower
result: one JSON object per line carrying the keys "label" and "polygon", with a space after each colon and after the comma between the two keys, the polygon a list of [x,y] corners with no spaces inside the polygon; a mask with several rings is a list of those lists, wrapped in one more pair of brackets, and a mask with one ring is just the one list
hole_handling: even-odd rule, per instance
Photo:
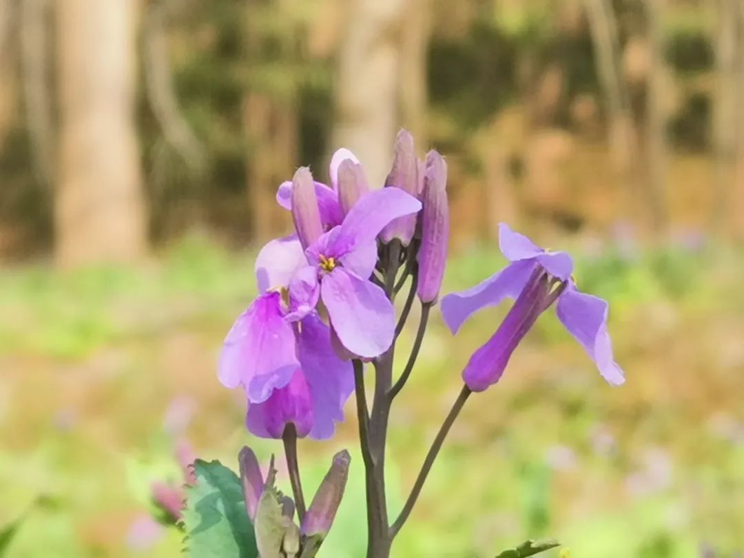
{"label": "drooping purple flower at lower left, behind the yellow-centred front flower", "polygon": [[295,237],[264,246],[256,260],[263,294],[237,318],[222,347],[219,380],[246,391],[246,426],[260,437],[281,437],[288,423],[300,436],[330,437],[353,391],[351,365],[336,356],[330,328],[305,307],[307,298],[288,296],[287,286],[301,292],[303,267]]}

